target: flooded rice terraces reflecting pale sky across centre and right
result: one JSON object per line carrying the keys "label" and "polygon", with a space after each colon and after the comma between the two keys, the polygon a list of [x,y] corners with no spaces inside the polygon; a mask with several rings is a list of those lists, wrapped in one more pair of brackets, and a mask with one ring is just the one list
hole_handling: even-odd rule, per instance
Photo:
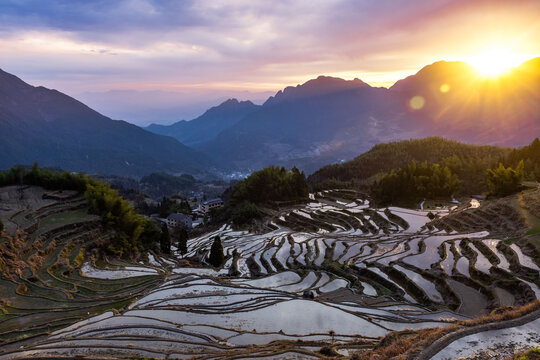
{"label": "flooded rice terraces reflecting pale sky across centre and right", "polygon": [[[445,326],[540,295],[537,259],[520,242],[508,245],[476,227],[464,232],[469,225],[449,210],[432,210],[439,219],[430,221],[427,211],[373,209],[358,196],[314,194],[311,203],[277,213],[264,234],[224,225],[188,242],[185,257],[204,263],[219,235],[228,256],[222,269],[182,268],[179,254],[137,265],[81,264],[63,281],[137,290],[116,289],[125,300],[120,311],[92,311],[47,336],[6,344],[0,359],[304,359],[322,357],[318,350],[329,343],[352,354],[393,330]],[[21,316],[12,319],[22,324]]]}

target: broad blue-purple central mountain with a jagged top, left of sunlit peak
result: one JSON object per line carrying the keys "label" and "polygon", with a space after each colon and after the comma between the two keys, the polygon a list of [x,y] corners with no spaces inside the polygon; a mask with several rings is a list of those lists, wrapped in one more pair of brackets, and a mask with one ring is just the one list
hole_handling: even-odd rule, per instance
{"label": "broad blue-purple central mountain with a jagged top, left of sunlit peak", "polygon": [[358,79],[321,76],[278,92],[196,148],[243,169],[280,164],[313,171],[407,136],[401,121],[406,111],[388,93]]}

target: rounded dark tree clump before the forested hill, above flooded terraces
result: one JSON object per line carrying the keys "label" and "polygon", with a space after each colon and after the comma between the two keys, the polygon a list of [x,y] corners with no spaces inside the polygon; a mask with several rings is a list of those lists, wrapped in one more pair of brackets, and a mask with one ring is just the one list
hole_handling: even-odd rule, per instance
{"label": "rounded dark tree clump before the forested hill, above flooded terraces", "polygon": [[462,181],[447,166],[429,165],[427,161],[417,164],[413,160],[375,182],[371,195],[380,205],[416,202],[422,198],[448,199],[461,185]]}

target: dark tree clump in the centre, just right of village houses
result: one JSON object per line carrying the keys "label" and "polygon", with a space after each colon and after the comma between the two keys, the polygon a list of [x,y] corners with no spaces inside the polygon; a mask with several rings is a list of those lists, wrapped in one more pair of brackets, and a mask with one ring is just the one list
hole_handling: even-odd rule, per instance
{"label": "dark tree clump in the centre, just right of village houses", "polygon": [[270,166],[237,182],[228,193],[222,213],[236,225],[243,225],[260,216],[257,205],[306,200],[309,189],[305,174],[296,167]]}

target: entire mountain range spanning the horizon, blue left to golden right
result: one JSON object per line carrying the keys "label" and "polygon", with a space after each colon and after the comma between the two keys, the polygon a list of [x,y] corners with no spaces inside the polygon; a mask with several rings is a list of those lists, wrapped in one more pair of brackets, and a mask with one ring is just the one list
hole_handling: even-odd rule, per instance
{"label": "entire mountain range spanning the horizon, blue left to golden right", "polygon": [[230,99],[191,121],[146,129],[0,71],[0,167],[37,161],[141,176],[277,164],[310,173],[381,142],[442,136],[520,146],[538,134],[540,58],[498,78],[440,61],[389,89],[320,76],[262,105]]}

